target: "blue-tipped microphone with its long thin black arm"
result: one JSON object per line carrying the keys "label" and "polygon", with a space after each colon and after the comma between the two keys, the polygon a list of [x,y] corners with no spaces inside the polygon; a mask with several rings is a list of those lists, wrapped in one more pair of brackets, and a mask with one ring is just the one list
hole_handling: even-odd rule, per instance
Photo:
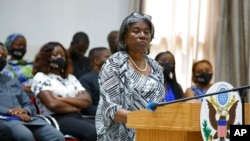
{"label": "blue-tipped microphone with its long thin black arm", "polygon": [[241,100],[242,100],[242,104],[243,104],[242,110],[244,111],[244,98],[246,96],[246,89],[249,89],[249,88],[250,88],[250,85],[248,85],[248,86],[242,86],[242,87],[233,88],[233,89],[226,90],[226,91],[220,91],[220,92],[215,92],[215,93],[210,93],[210,94],[204,94],[204,95],[199,95],[199,96],[187,97],[187,98],[177,99],[177,100],[173,100],[173,101],[169,101],[169,102],[156,103],[156,102],[153,102],[153,101],[149,101],[146,109],[154,112],[157,109],[158,106],[165,106],[165,105],[168,105],[168,104],[173,104],[173,103],[178,103],[178,102],[184,102],[184,101],[187,101],[187,100],[198,99],[198,98],[202,98],[202,97],[207,97],[207,96],[212,96],[212,95],[218,95],[218,94],[232,92],[232,91],[239,91],[240,97],[241,97]]}

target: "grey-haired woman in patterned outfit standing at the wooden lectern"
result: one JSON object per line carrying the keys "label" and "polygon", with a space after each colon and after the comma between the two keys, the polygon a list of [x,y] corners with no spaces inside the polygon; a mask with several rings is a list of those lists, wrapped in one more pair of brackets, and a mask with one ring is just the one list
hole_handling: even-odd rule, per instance
{"label": "grey-haired woman in patterned outfit standing at the wooden lectern", "polygon": [[153,37],[149,15],[132,13],[122,22],[118,51],[99,74],[97,141],[132,141],[134,130],[126,127],[127,113],[145,109],[149,101],[164,101],[161,66],[147,56]]}

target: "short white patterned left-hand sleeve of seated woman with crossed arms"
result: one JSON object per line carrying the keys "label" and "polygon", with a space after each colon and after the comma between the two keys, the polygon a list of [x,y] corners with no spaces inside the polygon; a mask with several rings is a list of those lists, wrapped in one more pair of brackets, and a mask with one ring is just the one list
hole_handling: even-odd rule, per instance
{"label": "short white patterned left-hand sleeve of seated woman with crossed arms", "polygon": [[44,73],[38,72],[34,78],[31,85],[31,91],[38,95],[41,91],[52,90],[50,78]]}

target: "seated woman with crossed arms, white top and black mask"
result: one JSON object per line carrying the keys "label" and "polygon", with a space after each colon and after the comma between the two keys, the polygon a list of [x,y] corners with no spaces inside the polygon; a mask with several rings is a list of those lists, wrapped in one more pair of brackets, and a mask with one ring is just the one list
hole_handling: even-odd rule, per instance
{"label": "seated woman with crossed arms, white top and black mask", "polygon": [[63,134],[96,141],[94,119],[83,118],[80,113],[92,104],[91,97],[71,73],[66,49],[59,42],[48,42],[35,57],[31,90],[40,114],[52,116]]}

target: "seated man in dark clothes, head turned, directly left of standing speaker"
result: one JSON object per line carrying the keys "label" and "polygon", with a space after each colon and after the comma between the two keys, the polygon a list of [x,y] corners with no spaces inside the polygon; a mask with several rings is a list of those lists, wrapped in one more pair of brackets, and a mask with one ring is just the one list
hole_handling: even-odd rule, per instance
{"label": "seated man in dark clothes, head turned, directly left of standing speaker", "polygon": [[111,52],[106,47],[95,47],[89,52],[91,71],[84,74],[80,78],[82,86],[90,93],[93,104],[82,111],[84,115],[95,116],[97,105],[99,102],[99,83],[98,75],[103,63],[111,55]]}

